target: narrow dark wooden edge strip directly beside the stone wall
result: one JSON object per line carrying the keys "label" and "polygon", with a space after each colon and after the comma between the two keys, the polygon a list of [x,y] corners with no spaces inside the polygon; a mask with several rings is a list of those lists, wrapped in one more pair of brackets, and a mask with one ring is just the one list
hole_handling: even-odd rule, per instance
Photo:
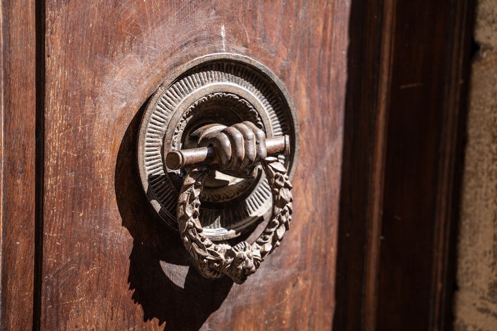
{"label": "narrow dark wooden edge strip directly beside the stone wall", "polygon": [[475,19],[474,0],[452,0],[448,20],[450,42],[444,66],[440,159],[433,227],[433,261],[429,310],[430,330],[452,330],[456,273],[456,239],[466,140],[466,118]]}

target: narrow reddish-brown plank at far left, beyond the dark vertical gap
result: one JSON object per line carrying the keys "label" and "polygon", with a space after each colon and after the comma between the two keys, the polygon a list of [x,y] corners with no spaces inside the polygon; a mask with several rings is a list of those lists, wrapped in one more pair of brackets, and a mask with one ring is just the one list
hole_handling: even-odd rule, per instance
{"label": "narrow reddish-brown plank at far left, beyond the dark vertical gap", "polygon": [[0,326],[33,323],[35,21],[32,1],[1,2]]}

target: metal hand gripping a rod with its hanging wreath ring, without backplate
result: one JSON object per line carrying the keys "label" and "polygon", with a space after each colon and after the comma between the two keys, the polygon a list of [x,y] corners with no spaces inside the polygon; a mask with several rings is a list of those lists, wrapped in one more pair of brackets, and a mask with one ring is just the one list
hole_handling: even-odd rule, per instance
{"label": "metal hand gripping a rod with its hanging wreath ring, without backplate", "polygon": [[[192,135],[197,138],[199,148],[176,150],[166,156],[170,169],[189,166],[177,204],[181,239],[202,275],[218,278],[226,274],[242,284],[279,246],[291,220],[292,186],[285,167],[273,157],[289,152],[289,137],[266,139],[265,133],[251,122],[231,127],[211,124]],[[199,220],[199,197],[209,170],[254,178],[259,164],[273,197],[272,216],[266,228],[252,244],[243,241],[232,247],[226,242],[212,242],[202,233]]]}

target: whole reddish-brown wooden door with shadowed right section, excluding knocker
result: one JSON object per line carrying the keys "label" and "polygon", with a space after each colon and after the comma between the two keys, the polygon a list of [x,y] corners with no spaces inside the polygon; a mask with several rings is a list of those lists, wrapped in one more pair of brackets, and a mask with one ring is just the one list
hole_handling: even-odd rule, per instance
{"label": "whole reddish-brown wooden door with shadowed right section, excluding knocker", "polygon": [[[471,1],[2,2],[1,329],[446,328],[457,201],[451,153],[461,145],[471,8]],[[438,46],[409,58],[422,45]],[[243,285],[190,267],[177,232],[147,200],[136,163],[149,97],[178,66],[219,52],[267,66],[300,126],[291,229]],[[437,107],[441,115],[428,118],[426,131],[411,127]],[[402,149],[410,141],[403,132],[418,144]],[[413,169],[403,165],[418,149],[414,168],[428,180],[409,182],[420,204],[402,204],[398,193]],[[404,224],[393,222],[401,216],[383,219],[394,206],[412,216],[409,229],[427,231],[422,250],[403,246],[416,241],[394,226]],[[383,231],[395,240],[380,245]],[[408,262],[400,263],[402,254],[392,260],[399,250]],[[423,261],[426,270],[404,277]],[[390,292],[399,277],[407,282]],[[407,291],[413,305],[403,305],[403,286],[413,282],[425,291]]]}

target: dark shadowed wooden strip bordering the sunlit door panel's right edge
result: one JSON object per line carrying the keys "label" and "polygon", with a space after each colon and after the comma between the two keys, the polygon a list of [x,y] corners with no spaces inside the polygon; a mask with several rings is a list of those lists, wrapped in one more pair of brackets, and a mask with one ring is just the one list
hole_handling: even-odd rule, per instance
{"label": "dark shadowed wooden strip bordering the sunlit door panel's right edge", "polygon": [[[366,268],[369,263],[376,269],[377,262],[373,260],[378,257],[373,253],[378,251],[379,243],[369,231],[380,226],[375,220],[381,220],[373,213],[375,205],[371,202],[379,198],[373,194],[382,194],[383,161],[375,158],[374,151],[384,148],[375,142],[385,136],[388,114],[379,109],[385,97],[379,95],[380,82],[389,75],[380,71],[382,39],[387,39],[385,44],[389,45],[383,12],[383,1],[351,3],[333,330],[365,330],[369,327],[366,315],[371,315],[369,321],[376,317],[376,274],[368,271],[373,274],[373,285],[369,285],[371,278],[366,277]],[[380,171],[375,171],[375,166]]]}

